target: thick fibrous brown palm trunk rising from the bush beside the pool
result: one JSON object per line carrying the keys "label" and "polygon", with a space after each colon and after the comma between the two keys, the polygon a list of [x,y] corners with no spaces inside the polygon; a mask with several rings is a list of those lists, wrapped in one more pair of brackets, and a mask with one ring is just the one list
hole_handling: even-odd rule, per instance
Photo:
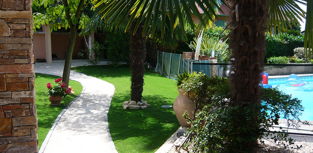
{"label": "thick fibrous brown palm trunk rising from the bush beside the pool", "polygon": [[[250,104],[260,104],[260,73],[262,72],[263,57],[265,55],[264,25],[267,18],[266,0],[232,0],[231,16],[229,18],[229,49],[232,53],[232,63],[229,74],[229,86],[232,92],[234,106],[241,108]],[[237,7],[237,8],[236,8]],[[237,15],[236,15],[237,14]],[[257,110],[258,111],[258,110]],[[233,121],[234,129],[240,129],[243,120],[248,120],[249,112],[238,115]],[[235,150],[254,148],[260,135],[257,117],[250,119],[249,130],[235,133],[239,138]],[[247,125],[246,125],[247,126]],[[251,139],[252,138],[252,139]],[[235,144],[235,143],[234,143]],[[245,150],[246,151],[246,150]],[[253,150],[251,150],[253,151]]]}

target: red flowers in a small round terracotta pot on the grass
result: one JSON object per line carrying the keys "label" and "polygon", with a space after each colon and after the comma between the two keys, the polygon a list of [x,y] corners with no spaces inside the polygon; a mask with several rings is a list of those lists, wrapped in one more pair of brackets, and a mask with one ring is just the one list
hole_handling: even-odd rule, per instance
{"label": "red flowers in a small round terracotta pot on the grass", "polygon": [[62,79],[54,79],[55,86],[51,86],[51,83],[47,83],[47,91],[49,95],[50,105],[59,105],[63,97],[66,97],[71,92],[71,88],[65,88],[66,83],[62,82]]}

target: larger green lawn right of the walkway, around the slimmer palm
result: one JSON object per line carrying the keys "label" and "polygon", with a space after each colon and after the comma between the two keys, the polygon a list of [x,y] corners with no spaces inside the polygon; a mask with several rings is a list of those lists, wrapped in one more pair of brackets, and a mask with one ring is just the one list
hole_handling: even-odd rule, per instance
{"label": "larger green lawn right of the walkway, around the slimmer palm", "polygon": [[78,66],[71,69],[115,86],[108,121],[119,153],[154,153],[180,127],[173,108],[161,107],[173,105],[178,95],[176,81],[146,69],[142,96],[151,106],[146,109],[123,109],[123,102],[128,101],[131,94],[129,66]]}

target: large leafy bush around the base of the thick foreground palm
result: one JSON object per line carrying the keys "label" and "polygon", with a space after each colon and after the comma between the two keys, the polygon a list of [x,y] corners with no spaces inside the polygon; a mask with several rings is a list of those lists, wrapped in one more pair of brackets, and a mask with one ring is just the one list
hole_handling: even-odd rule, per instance
{"label": "large leafy bush around the base of the thick foreground palm", "polygon": [[193,72],[179,88],[185,92],[193,91],[195,96],[194,117],[188,119],[184,114],[192,125],[188,129],[189,143],[184,148],[191,147],[193,152],[252,152],[254,148],[243,142],[261,138],[279,141],[281,146],[286,147],[293,144],[287,131],[280,129],[271,134],[271,127],[277,125],[280,118],[287,119],[287,125],[296,128],[299,128],[298,122],[309,124],[299,119],[304,109],[301,101],[279,91],[277,87],[261,88],[264,93],[262,103],[244,106],[232,102],[226,77],[208,77],[201,72]]}

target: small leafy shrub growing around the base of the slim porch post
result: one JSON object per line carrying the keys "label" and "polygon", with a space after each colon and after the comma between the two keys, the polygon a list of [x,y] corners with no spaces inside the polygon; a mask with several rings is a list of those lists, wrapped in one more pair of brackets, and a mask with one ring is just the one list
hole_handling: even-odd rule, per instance
{"label": "small leafy shrub growing around the base of the slim porch post", "polygon": [[[99,44],[97,41],[94,41],[92,44],[94,44],[94,47],[91,48],[91,51],[89,49],[86,49],[87,55],[89,55],[89,59],[87,62],[89,64],[92,64],[93,66],[99,65],[100,64],[100,56],[104,54],[104,45]],[[95,54],[95,59],[92,59],[91,54]],[[78,53],[80,58],[84,58],[84,53],[80,52]]]}

